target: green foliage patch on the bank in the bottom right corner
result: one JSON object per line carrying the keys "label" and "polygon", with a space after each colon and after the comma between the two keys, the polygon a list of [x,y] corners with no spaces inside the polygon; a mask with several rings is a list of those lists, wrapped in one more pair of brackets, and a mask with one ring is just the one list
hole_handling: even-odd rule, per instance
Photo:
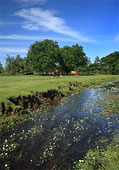
{"label": "green foliage patch on the bank in the bottom right corner", "polygon": [[118,137],[104,150],[89,150],[84,160],[79,160],[74,166],[75,170],[118,170],[119,169],[119,143]]}

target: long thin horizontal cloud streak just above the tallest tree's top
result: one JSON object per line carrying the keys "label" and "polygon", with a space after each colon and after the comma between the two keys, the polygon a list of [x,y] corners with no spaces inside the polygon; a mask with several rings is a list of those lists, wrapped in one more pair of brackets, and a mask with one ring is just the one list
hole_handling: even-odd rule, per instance
{"label": "long thin horizontal cloud streak just above the tallest tree's top", "polygon": [[79,42],[78,39],[71,38],[59,38],[59,37],[48,37],[48,36],[32,36],[32,35],[0,35],[0,39],[10,39],[10,40],[44,40],[50,39],[54,41],[67,41],[67,42]]}

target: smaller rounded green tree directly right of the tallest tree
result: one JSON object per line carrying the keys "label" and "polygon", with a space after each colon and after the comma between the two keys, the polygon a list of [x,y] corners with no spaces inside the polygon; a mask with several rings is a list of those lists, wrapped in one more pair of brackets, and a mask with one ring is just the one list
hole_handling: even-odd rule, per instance
{"label": "smaller rounded green tree directly right of the tallest tree", "polygon": [[71,70],[78,70],[80,67],[85,67],[88,63],[83,47],[78,44],[72,47],[64,46],[60,49],[60,56],[60,65],[66,73],[69,73]]}

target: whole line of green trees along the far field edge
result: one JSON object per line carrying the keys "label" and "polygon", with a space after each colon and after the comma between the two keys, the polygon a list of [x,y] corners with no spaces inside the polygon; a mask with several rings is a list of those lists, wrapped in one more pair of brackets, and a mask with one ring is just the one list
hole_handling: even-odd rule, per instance
{"label": "whole line of green trees along the far field edge", "polygon": [[25,58],[7,55],[4,68],[0,62],[0,73],[11,75],[44,72],[47,75],[55,69],[63,74],[71,70],[79,74],[119,74],[119,51],[101,59],[96,56],[94,63],[91,63],[82,46],[76,44],[59,48],[58,42],[46,39],[32,44]]}

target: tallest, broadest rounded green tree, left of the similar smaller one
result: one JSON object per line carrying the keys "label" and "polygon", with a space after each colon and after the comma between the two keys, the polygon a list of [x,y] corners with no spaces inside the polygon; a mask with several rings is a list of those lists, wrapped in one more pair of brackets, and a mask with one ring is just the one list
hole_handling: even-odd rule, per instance
{"label": "tallest, broadest rounded green tree, left of the similar smaller one", "polygon": [[53,71],[56,68],[59,57],[59,46],[56,41],[36,41],[28,50],[26,63],[29,71],[43,72]]}

